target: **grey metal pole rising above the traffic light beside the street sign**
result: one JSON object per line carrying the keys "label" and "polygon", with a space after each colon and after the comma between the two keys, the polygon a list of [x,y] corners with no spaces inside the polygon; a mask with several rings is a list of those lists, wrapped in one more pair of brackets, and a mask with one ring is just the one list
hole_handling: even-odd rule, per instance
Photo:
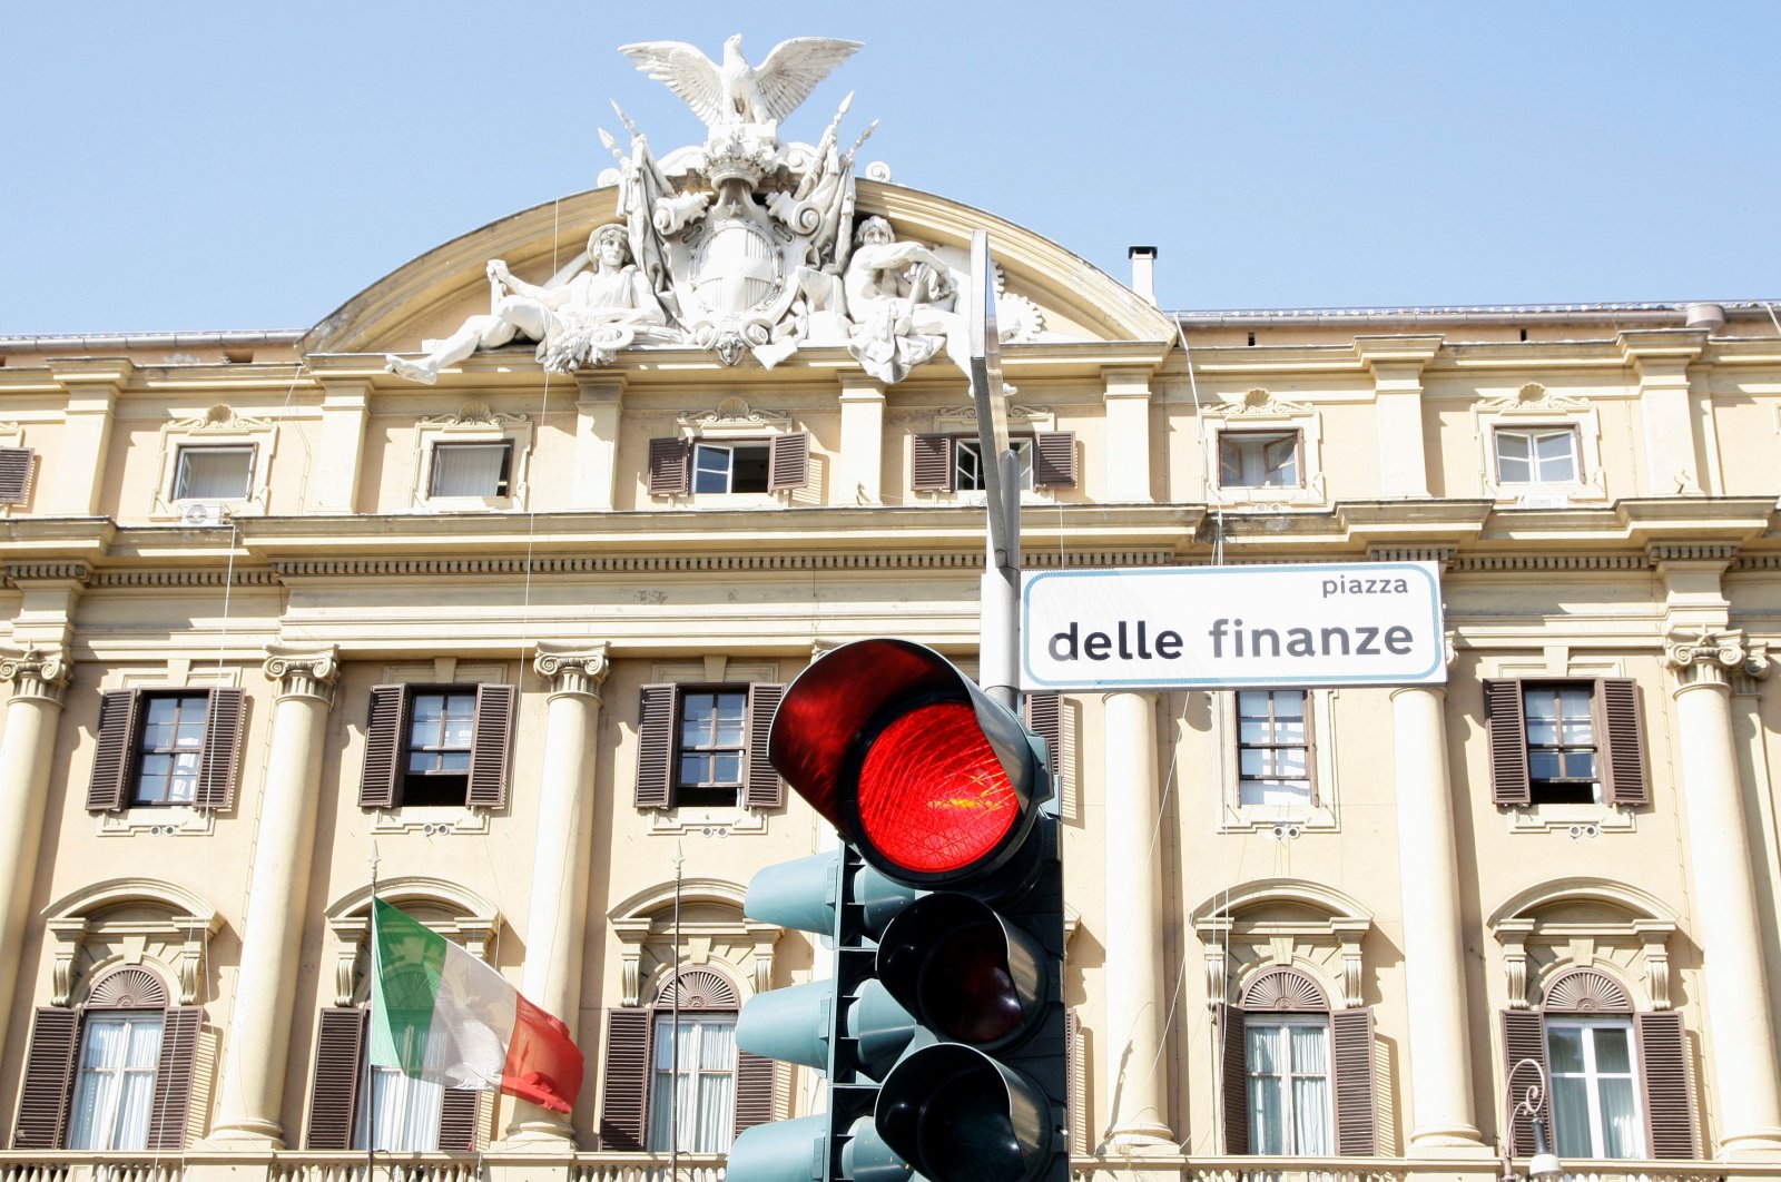
{"label": "grey metal pole rising above the traffic light beside the street sign", "polygon": [[978,411],[983,463],[983,509],[988,554],[983,563],[978,616],[978,684],[990,698],[1017,710],[1021,703],[1021,459],[1008,445],[1008,399],[996,333],[996,285],[990,281],[990,235],[971,233],[971,401]]}

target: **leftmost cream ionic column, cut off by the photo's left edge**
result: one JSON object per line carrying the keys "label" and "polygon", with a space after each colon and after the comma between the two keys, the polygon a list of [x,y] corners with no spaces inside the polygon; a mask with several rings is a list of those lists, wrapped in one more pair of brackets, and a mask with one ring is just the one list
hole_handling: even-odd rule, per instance
{"label": "leftmost cream ionic column, cut off by the photo's left edge", "polygon": [[0,949],[14,949],[0,965],[0,1047],[5,1047],[5,1020],[18,988],[16,949],[23,943],[36,886],[37,835],[50,789],[55,725],[68,689],[68,659],[59,646],[32,646],[0,660],[0,680],[12,682],[0,737]]}

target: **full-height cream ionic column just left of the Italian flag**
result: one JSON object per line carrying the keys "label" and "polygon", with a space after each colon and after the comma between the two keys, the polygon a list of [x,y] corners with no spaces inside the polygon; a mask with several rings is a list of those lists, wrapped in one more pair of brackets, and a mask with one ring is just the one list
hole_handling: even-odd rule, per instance
{"label": "full-height cream ionic column just left of the Italian flag", "polygon": [[278,685],[272,744],[265,755],[248,913],[240,929],[240,974],[224,1043],[223,1118],[210,1139],[283,1148],[280,1111],[303,949],[303,903],[315,853],[315,796],[340,662],[331,646],[269,646],[267,653],[265,676]]}

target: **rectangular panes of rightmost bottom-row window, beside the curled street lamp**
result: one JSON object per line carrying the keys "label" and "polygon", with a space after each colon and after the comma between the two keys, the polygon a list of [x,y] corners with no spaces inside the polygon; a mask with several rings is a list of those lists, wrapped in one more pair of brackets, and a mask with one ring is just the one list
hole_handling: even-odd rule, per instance
{"label": "rectangular panes of rightmost bottom-row window, beside the curled street lamp", "polygon": [[1644,1157],[1633,1024],[1548,1015],[1546,1054],[1558,1155]]}

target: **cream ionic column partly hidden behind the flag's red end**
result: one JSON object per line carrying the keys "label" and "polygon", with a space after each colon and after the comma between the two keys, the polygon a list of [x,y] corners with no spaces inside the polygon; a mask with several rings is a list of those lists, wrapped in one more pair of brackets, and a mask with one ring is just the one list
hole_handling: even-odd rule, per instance
{"label": "cream ionic column partly hidden behind the flag's red end", "polygon": [[[540,644],[533,668],[550,684],[545,758],[538,785],[538,840],[533,844],[533,903],[525,920],[525,972],[520,992],[575,1029],[581,1015],[581,961],[586,949],[588,842],[593,815],[595,725],[606,644]],[[561,1143],[573,1148],[570,1118],[525,1100],[515,1102],[509,1141]]]}

